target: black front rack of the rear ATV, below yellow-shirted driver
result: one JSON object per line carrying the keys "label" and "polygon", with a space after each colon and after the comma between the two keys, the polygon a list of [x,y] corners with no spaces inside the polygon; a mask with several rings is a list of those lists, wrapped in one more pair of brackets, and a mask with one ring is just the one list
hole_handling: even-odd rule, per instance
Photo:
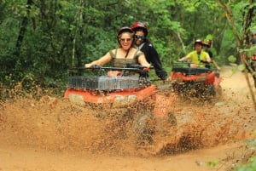
{"label": "black front rack of the rear ATV, below yellow-shirted driver", "polygon": [[207,73],[210,72],[211,70],[209,68],[191,68],[191,67],[173,67],[172,71],[174,72],[182,72],[186,75],[196,75],[196,74],[201,74],[201,73]]}

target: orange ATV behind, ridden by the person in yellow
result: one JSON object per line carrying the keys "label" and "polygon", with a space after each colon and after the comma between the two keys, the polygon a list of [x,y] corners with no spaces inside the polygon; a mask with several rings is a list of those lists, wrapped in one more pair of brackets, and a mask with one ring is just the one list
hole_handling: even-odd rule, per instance
{"label": "orange ATV behind, ridden by the person in yellow", "polygon": [[184,97],[209,99],[219,94],[220,82],[217,71],[204,64],[195,65],[189,62],[175,62],[172,67],[172,88]]}

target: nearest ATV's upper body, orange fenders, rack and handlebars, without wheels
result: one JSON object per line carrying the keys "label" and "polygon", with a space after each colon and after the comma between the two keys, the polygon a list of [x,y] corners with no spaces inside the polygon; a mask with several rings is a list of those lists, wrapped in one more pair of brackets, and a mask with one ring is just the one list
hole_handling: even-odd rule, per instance
{"label": "nearest ATV's upper body, orange fenders, rack and handlebars, without wheels", "polygon": [[[147,72],[143,67],[130,65],[124,68],[92,66],[73,70],[88,70],[96,76],[71,76],[68,78],[65,98],[96,105],[129,105],[136,100],[144,100],[155,94]],[[131,72],[137,74],[131,75]],[[90,73],[91,74],[91,73]]]}

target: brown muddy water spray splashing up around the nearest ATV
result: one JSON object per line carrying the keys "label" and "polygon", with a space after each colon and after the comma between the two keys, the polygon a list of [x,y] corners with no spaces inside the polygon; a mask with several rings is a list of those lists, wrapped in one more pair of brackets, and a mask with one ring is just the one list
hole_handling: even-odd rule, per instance
{"label": "brown muddy water spray splashing up around the nearest ATV", "polygon": [[[156,100],[154,105],[167,114],[148,117],[153,109],[143,103],[116,110],[50,96],[1,102],[0,141],[49,151],[170,155],[241,140],[255,128],[249,100],[237,105],[224,97],[220,106],[173,94]],[[140,124],[143,129],[137,128]]]}

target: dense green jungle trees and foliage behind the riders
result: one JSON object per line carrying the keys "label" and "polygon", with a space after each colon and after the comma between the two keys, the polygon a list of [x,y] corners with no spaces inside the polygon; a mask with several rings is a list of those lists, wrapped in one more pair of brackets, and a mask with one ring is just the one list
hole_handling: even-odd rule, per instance
{"label": "dense green jungle trees and foliage behind the riders", "polygon": [[255,8],[254,0],[0,0],[0,84],[29,76],[45,87],[63,86],[68,68],[116,48],[116,31],[135,21],[148,25],[167,71],[196,38],[212,37],[222,66],[248,48]]}

